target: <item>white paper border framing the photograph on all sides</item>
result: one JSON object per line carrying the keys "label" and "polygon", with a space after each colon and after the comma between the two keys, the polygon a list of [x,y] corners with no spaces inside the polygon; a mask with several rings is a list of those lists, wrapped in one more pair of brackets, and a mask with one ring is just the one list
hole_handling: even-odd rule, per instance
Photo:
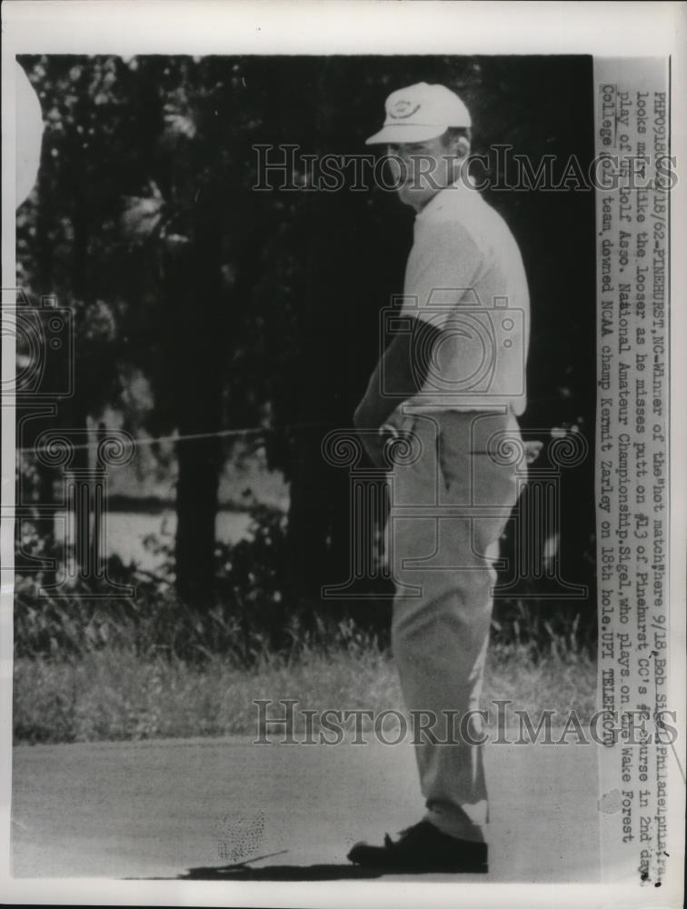
{"label": "white paper border framing the photograph on all sides", "polygon": [[[375,0],[6,0],[3,16],[3,275],[14,275],[14,67],[20,53],[140,54],[594,54],[672,55],[672,151],[685,147],[687,43],[683,3],[434,3]],[[680,53],[680,55],[678,55]],[[678,165],[679,166],[679,165]],[[684,725],[684,515],[687,445],[684,355],[687,281],[683,256],[687,192],[672,199],[672,704]],[[682,238],[682,246],[677,237]],[[681,261],[682,260],[682,261]],[[678,271],[679,268],[679,271]],[[14,286],[4,280],[3,286]],[[14,350],[4,350],[4,375]],[[15,426],[3,413],[3,504],[13,504]],[[5,484],[5,480],[8,482]],[[6,498],[5,498],[6,495]],[[3,529],[3,556],[12,544]],[[10,550],[11,552],[11,550]],[[7,564],[4,559],[4,564]],[[3,578],[5,582],[5,578]],[[11,728],[11,590],[0,608],[0,724]],[[11,736],[0,737],[0,862],[9,844]],[[681,749],[681,755],[683,749]],[[679,801],[673,786],[673,799]],[[680,810],[675,804],[675,811]],[[484,909],[509,906],[678,905],[678,890],[564,884],[314,884],[128,882],[105,879],[14,880],[0,868],[7,902],[54,904],[284,905],[424,904]],[[668,882],[666,882],[668,884]],[[458,886],[458,889],[456,887]],[[419,888],[422,887],[422,890]],[[672,891],[672,893],[671,893]]]}

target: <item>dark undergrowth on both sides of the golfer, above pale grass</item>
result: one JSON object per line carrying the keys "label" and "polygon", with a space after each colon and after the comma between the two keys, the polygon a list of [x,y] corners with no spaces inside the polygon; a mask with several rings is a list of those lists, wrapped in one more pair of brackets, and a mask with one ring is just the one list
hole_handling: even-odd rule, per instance
{"label": "dark undergrowth on both sides of the golfer, above pale grass", "polygon": [[[250,536],[217,546],[216,594],[202,607],[179,598],[171,574],[151,575],[116,558],[109,560],[108,579],[134,586],[133,598],[108,597],[105,582],[78,580],[65,584],[55,598],[41,591],[45,579],[40,574],[20,574],[15,584],[15,655],[69,662],[124,647],[142,658],[202,665],[221,655],[231,664],[250,667],[260,664],[265,654],[291,660],[312,649],[334,654],[342,648],[387,648],[388,622],[375,610],[358,614],[353,622],[351,614],[304,602],[289,586],[286,530],[279,509],[254,505]],[[31,550],[35,557],[46,554],[40,543],[36,537]],[[170,567],[174,564],[168,542],[149,539],[148,545],[168,554]],[[522,598],[497,601],[492,637],[494,644],[527,651],[535,662],[545,654],[592,654],[594,644],[578,605],[553,609]]]}

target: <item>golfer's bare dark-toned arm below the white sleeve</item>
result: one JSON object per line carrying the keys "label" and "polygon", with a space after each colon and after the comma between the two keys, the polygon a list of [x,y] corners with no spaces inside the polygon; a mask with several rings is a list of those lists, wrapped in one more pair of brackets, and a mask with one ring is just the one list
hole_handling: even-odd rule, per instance
{"label": "golfer's bare dark-toned arm below the white sleeve", "polygon": [[[363,395],[355,409],[356,429],[379,430],[393,411],[424,385],[429,366],[429,354],[440,330],[434,325],[415,319],[412,330],[395,335],[384,351]],[[422,355],[418,355],[422,352]],[[373,464],[383,466],[384,439],[363,435],[363,445]]]}

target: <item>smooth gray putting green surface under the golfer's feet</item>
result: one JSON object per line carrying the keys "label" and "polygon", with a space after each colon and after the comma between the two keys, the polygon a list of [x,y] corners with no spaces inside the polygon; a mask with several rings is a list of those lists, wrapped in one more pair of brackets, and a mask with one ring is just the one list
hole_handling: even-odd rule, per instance
{"label": "smooth gray putting green surface under the golfer's feet", "polygon": [[[460,880],[598,880],[595,746],[493,744],[486,761],[490,874]],[[13,775],[17,877],[369,877],[353,842],[422,814],[407,742],[17,746]]]}

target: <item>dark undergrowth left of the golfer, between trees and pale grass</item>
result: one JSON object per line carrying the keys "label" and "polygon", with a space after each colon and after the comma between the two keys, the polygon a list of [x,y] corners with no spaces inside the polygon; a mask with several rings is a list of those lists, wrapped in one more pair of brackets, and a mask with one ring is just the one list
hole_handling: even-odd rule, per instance
{"label": "dark undergrowth left of the golfer, between trees and pale grass", "polygon": [[[151,539],[148,545],[171,556],[165,541]],[[106,581],[66,581],[59,597],[42,590],[44,574],[18,574],[15,655],[68,661],[126,646],[143,657],[167,655],[194,664],[224,654],[247,666],[266,653],[293,656],[310,646],[323,652],[352,646],[359,632],[350,624],[299,609],[284,584],[286,551],[283,512],[256,505],[250,538],[217,546],[216,594],[202,607],[179,598],[173,575],[141,572],[116,557],[108,562]],[[29,541],[27,552],[35,558],[50,554],[40,537]],[[134,586],[135,596],[112,596],[108,582]]]}

